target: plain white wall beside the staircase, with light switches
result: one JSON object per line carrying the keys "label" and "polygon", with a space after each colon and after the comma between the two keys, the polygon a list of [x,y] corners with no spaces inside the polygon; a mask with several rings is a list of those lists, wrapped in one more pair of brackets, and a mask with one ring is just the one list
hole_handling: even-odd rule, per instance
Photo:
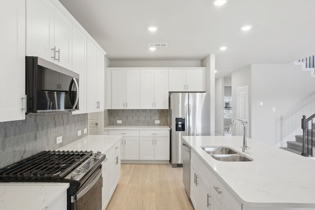
{"label": "plain white wall beside the staircase, with light switches", "polygon": [[302,135],[302,116],[314,113],[315,78],[310,72],[293,64],[252,64],[253,139],[286,147],[286,141]]}

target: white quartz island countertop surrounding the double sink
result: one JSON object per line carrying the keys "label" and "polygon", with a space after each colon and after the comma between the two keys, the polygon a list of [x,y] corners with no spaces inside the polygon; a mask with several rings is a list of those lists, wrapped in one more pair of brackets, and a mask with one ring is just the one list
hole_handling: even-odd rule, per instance
{"label": "white quartz island countertop surrounding the double sink", "polygon": [[[247,206],[315,208],[315,161],[243,136],[185,136],[191,149],[209,165]],[[253,159],[223,162],[201,146],[226,146]]]}

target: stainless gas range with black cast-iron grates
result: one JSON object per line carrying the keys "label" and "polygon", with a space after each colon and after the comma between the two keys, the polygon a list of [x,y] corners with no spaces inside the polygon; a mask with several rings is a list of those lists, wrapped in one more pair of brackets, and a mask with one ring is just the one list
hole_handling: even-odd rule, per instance
{"label": "stainless gas range with black cast-iron grates", "polygon": [[[95,192],[101,195],[101,163],[105,157],[105,154],[93,151],[42,151],[0,169],[0,182],[69,182],[68,210],[73,210],[83,192],[86,197]],[[95,189],[91,189],[91,185],[95,185]],[[95,192],[87,193],[90,189]],[[97,196],[95,209],[99,209],[99,200],[101,198]]]}

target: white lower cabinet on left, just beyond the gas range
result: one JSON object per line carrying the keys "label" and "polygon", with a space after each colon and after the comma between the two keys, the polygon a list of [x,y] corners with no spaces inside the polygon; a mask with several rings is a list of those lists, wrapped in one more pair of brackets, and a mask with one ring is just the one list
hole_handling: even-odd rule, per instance
{"label": "white lower cabinet on left, just beyond the gas range", "polygon": [[109,149],[106,152],[106,159],[102,163],[102,210],[106,209],[120,179],[120,146],[121,141]]}

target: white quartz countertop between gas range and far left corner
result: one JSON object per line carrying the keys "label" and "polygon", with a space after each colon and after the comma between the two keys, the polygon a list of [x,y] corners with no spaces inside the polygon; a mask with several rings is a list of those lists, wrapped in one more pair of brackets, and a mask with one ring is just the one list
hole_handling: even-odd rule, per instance
{"label": "white quartz countertop between gas range and far left corner", "polygon": [[121,139],[121,136],[88,135],[56,150],[92,150],[106,154],[107,150],[111,149]]}

